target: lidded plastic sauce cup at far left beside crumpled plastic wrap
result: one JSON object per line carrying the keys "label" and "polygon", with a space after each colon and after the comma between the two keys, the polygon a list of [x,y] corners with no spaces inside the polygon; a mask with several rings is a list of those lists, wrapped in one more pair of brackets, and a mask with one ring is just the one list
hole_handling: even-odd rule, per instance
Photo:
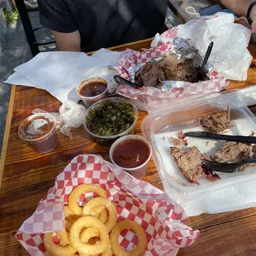
{"label": "lidded plastic sauce cup at far left beside crumpled plastic wrap", "polygon": [[21,123],[18,134],[21,140],[25,140],[40,154],[53,151],[59,144],[55,118],[46,113],[26,118]]}

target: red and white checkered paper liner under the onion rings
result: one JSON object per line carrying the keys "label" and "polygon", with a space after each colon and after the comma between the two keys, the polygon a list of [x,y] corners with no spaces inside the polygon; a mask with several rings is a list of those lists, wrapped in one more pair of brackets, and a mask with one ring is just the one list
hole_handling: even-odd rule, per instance
{"label": "red and white checkered paper liner under the onion rings", "polygon": [[[68,203],[73,188],[83,183],[99,184],[107,191],[108,199],[116,206],[117,222],[128,218],[145,229],[149,242],[147,256],[176,255],[178,248],[191,245],[199,236],[198,230],[183,224],[187,220],[186,213],[164,192],[133,178],[101,156],[83,154],[64,168],[55,179],[55,186],[17,231],[17,240],[29,254],[46,255],[43,233],[64,230],[64,204]],[[84,194],[79,198],[80,205],[92,197],[92,193]],[[120,243],[132,249],[136,236],[130,231],[122,233]]]}

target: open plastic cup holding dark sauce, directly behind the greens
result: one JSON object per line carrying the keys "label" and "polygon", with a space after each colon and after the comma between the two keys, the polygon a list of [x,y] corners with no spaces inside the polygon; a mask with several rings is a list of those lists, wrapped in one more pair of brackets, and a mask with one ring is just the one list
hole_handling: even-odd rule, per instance
{"label": "open plastic cup holding dark sauce, directly behind the greens", "polygon": [[[97,96],[94,97],[85,97],[83,95],[81,95],[81,89],[88,86],[89,83],[105,83],[106,84],[106,90],[100,94],[98,94]],[[109,84],[107,82],[106,79],[103,78],[88,78],[83,80],[77,87],[77,93],[78,96],[81,97],[81,99],[83,100],[83,103],[85,105],[85,107],[90,107],[93,103],[98,102],[100,100],[102,100],[103,98],[107,97],[107,92],[108,92],[108,88],[109,88]]]}

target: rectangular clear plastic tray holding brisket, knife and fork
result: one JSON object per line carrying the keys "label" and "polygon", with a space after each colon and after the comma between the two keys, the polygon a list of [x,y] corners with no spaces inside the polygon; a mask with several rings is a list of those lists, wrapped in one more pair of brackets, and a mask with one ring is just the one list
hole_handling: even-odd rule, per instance
{"label": "rectangular clear plastic tray holding brisket, knife and fork", "polygon": [[[255,116],[249,111],[249,108],[243,102],[220,93],[177,99],[172,104],[165,104],[159,107],[159,110],[149,112],[141,124],[143,135],[152,145],[154,163],[164,184],[164,190],[182,206],[186,206],[195,198],[207,200],[207,197],[214,192],[220,192],[222,188],[237,186],[256,178],[255,167],[249,167],[243,172],[218,173],[221,180],[216,182],[201,177],[199,178],[200,185],[197,186],[197,184],[187,182],[169,154],[170,146],[173,146],[171,136],[178,137],[179,130],[183,130],[183,132],[202,130],[196,121],[197,118],[216,113],[216,111],[225,111],[228,106],[231,109],[230,117],[233,127],[225,134],[249,135],[252,131],[256,131]],[[201,153],[211,156],[225,143],[220,140],[190,137],[187,137],[186,140],[189,147],[195,145]]]}

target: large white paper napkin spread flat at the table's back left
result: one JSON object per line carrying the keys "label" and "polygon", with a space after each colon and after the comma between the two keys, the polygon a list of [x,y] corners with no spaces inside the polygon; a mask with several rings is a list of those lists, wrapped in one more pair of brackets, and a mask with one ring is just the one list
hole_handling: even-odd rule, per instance
{"label": "large white paper napkin spread flat at the table's back left", "polygon": [[21,64],[5,83],[41,88],[64,102],[78,102],[78,84],[93,70],[115,66],[121,53],[101,49],[89,57],[76,52],[44,52]]}

